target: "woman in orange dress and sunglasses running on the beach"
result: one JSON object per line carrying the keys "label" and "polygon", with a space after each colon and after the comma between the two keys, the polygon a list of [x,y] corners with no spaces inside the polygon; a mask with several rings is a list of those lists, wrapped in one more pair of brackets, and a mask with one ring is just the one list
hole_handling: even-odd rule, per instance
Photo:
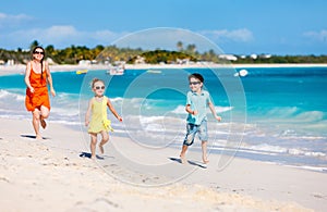
{"label": "woman in orange dress and sunglasses running on the beach", "polygon": [[33,115],[33,127],[36,139],[43,139],[39,133],[39,125],[46,128],[46,119],[50,113],[50,100],[48,93],[47,83],[50,86],[50,92],[55,97],[56,91],[52,86],[52,77],[49,65],[45,59],[45,50],[41,47],[33,49],[33,60],[26,65],[25,84],[26,99],[25,105],[27,111]]}

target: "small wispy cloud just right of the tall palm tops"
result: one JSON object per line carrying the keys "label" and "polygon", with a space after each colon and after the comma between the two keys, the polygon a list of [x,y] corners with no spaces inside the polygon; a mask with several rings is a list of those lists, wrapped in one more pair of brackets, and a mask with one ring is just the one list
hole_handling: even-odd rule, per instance
{"label": "small wispy cloud just right of the tall palm tops", "polygon": [[246,28],[240,28],[234,30],[221,29],[221,30],[203,30],[204,36],[210,39],[222,41],[237,41],[237,42],[250,42],[254,39],[251,30]]}

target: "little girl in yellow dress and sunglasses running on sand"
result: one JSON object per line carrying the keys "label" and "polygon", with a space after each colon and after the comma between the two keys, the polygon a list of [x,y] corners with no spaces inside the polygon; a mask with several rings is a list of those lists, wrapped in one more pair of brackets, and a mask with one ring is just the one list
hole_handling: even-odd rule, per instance
{"label": "little girl in yellow dress and sunglasses running on sand", "polygon": [[[108,132],[111,130],[111,122],[107,119],[107,107],[112,114],[122,122],[122,117],[118,115],[109,98],[104,96],[105,83],[101,79],[95,78],[92,80],[92,90],[95,93],[89,100],[88,108],[85,115],[85,126],[88,126],[88,134],[90,135],[90,158],[96,159],[97,135],[101,134],[101,141],[99,144],[100,152],[104,153],[104,145],[109,140]],[[89,122],[89,116],[92,116]]]}

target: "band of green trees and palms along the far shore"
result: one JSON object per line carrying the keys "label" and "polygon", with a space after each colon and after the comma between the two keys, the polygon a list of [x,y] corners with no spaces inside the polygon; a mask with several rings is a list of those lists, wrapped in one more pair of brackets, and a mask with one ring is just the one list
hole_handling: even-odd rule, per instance
{"label": "band of green trees and palms along the far shore", "polygon": [[[14,64],[26,64],[31,60],[31,49],[36,46],[43,46],[37,40],[29,45],[29,49],[17,48],[16,50],[5,50],[0,48],[0,61],[5,64],[7,61],[13,61]],[[94,63],[116,63],[124,61],[135,63],[142,58],[144,63],[179,63],[179,61],[207,61],[213,63],[232,62],[235,64],[261,64],[261,63],[327,63],[325,55],[271,55],[267,53],[238,55],[221,54],[213,49],[198,52],[194,43],[183,43],[178,41],[174,50],[143,50],[141,48],[119,48],[117,46],[101,46],[88,48],[86,46],[66,47],[56,49],[53,45],[45,47],[46,58],[53,61],[55,64],[78,64],[80,61],[93,61]],[[2,63],[1,63],[2,64]]]}

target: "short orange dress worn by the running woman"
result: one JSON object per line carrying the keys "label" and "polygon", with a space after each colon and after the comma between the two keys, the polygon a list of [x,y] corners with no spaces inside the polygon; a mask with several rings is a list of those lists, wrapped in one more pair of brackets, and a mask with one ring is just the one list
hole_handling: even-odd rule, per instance
{"label": "short orange dress worn by the running woman", "polygon": [[44,71],[41,78],[41,74],[37,74],[31,68],[29,83],[34,88],[34,92],[31,92],[29,88],[26,89],[25,107],[27,111],[40,109],[41,105],[47,107],[50,110],[47,73]]}

